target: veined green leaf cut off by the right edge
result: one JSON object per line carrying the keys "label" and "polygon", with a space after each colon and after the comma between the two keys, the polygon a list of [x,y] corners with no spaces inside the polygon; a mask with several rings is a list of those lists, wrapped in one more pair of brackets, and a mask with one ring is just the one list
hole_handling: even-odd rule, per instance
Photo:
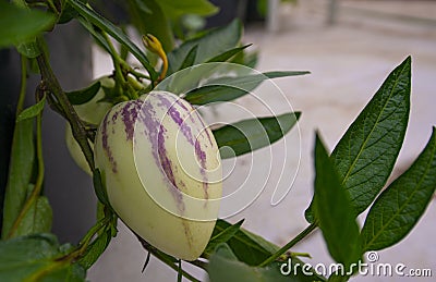
{"label": "veined green leaf cut off by the right edge", "polygon": [[436,188],[436,128],[413,164],[372,206],[362,229],[363,249],[378,250],[401,241],[416,224]]}

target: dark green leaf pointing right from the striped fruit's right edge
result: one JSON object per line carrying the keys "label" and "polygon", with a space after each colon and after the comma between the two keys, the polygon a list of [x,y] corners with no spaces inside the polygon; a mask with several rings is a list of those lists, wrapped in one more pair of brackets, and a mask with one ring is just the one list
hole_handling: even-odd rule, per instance
{"label": "dark green leaf pointing right from the striped fruit's right edge", "polygon": [[231,148],[220,150],[221,158],[232,158],[277,142],[293,127],[299,118],[300,112],[290,112],[278,117],[243,120],[225,125],[213,133],[219,148]]}

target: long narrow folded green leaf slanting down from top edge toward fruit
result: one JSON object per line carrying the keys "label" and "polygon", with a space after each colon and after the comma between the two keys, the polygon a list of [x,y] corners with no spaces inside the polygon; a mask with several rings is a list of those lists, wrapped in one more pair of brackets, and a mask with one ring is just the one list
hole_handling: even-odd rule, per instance
{"label": "long narrow folded green leaf slanting down from top edge toward fruit", "polygon": [[144,65],[147,70],[148,74],[153,79],[156,79],[158,76],[155,69],[149,64],[147,57],[144,54],[141,49],[134,45],[129,37],[116,25],[111,22],[97,14],[95,11],[90,10],[80,0],[68,0],[69,3],[78,12],[80,15],[89,21],[93,25],[97,26],[101,30],[108,33],[112,36],[117,41],[124,45],[129,51]]}

